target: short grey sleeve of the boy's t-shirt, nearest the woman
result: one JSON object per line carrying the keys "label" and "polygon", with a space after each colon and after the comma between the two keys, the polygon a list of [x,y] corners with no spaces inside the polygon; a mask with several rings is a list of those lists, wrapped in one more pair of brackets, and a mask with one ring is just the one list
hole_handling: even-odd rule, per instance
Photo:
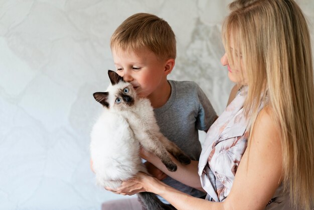
{"label": "short grey sleeve of the boy's t-shirt, nearest the woman", "polygon": [[[197,85],[198,86],[198,85]],[[198,86],[199,112],[196,119],[196,128],[207,131],[216,119],[216,112],[206,94]]]}

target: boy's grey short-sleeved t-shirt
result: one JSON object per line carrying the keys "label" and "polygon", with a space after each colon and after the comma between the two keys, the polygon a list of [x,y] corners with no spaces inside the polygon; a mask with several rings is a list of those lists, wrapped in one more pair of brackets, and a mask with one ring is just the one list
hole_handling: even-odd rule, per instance
{"label": "boy's grey short-sleeved t-shirt", "polygon": [[[199,160],[202,148],[198,130],[207,131],[215,120],[216,112],[195,82],[168,82],[171,85],[171,95],[163,107],[154,109],[156,121],[169,140],[177,144],[192,160]],[[169,176],[163,182],[195,197],[206,195]],[[159,198],[169,203],[164,198]]]}

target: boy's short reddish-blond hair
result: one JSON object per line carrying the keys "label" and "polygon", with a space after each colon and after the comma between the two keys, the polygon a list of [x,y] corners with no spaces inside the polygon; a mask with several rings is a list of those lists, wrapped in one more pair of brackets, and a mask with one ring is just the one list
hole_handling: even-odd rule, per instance
{"label": "boy's short reddish-blond hair", "polygon": [[161,59],[175,59],[177,54],[176,37],[170,25],[147,13],[127,18],[113,33],[110,47],[134,52],[148,49]]}

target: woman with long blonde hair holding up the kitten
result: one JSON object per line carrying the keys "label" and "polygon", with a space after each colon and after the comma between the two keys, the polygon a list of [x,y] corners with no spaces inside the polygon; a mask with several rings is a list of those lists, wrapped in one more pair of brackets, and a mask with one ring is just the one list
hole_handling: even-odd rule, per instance
{"label": "woman with long blonde hair holding up the kitten", "polygon": [[207,198],[143,173],[115,193],[149,191],[189,210],[311,208],[314,87],[304,16],[293,0],[239,0],[230,10],[221,62],[237,85],[208,131],[200,161],[184,166],[174,160],[178,170],[169,172],[152,154],[141,154],[169,176],[205,190]]}

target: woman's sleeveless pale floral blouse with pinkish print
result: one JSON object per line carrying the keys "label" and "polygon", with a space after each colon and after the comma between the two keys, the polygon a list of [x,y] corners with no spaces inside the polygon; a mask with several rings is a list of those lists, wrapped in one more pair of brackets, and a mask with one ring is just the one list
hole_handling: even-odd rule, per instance
{"label": "woman's sleeveless pale floral blouse with pinkish print", "polygon": [[[211,201],[224,201],[228,196],[247,147],[247,122],[243,113],[246,95],[244,86],[207,132],[198,173],[208,193],[206,199]],[[288,203],[280,185],[265,209],[290,209]]]}

